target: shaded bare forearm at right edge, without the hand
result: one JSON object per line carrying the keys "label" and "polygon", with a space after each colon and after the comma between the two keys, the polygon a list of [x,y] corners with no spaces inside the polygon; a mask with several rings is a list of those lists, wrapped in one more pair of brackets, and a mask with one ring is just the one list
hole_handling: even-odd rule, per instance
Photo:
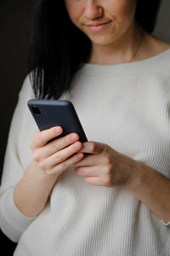
{"label": "shaded bare forearm at right edge, without the hand", "polygon": [[131,182],[127,183],[133,195],[161,218],[165,223],[170,221],[170,180],[160,173],[137,162]]}

